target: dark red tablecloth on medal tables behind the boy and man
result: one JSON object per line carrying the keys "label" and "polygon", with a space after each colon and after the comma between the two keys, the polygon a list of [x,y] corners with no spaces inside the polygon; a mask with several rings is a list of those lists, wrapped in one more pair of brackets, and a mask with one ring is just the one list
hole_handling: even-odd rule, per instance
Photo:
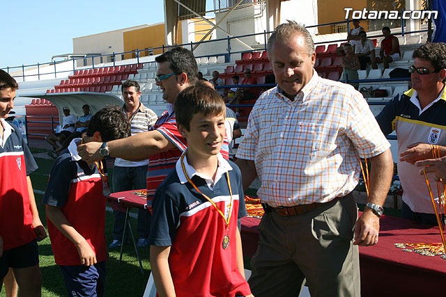
{"label": "dark red tablecloth on medal tables behind the boy and man", "polygon": [[[109,200],[124,207],[144,208],[146,199],[125,191]],[[243,254],[252,257],[259,242],[260,219],[242,218]],[[383,216],[380,238],[375,246],[360,247],[361,295],[364,296],[446,296],[446,260],[403,252],[394,243],[440,242],[438,227]],[[322,284],[323,285],[323,284]],[[443,292],[443,293],[442,293]]]}

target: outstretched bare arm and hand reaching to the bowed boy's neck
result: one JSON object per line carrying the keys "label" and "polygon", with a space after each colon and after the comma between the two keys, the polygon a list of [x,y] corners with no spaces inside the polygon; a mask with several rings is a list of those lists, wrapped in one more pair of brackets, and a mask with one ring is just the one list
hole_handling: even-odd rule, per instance
{"label": "outstretched bare arm and hand reaching to the bowed boy's neck", "polygon": [[[103,159],[100,155],[102,143],[90,142],[77,147],[79,156],[87,163]],[[171,150],[176,146],[160,133],[160,131],[147,131],[128,138],[116,139],[107,143],[109,155],[129,161],[142,161],[153,154]]]}

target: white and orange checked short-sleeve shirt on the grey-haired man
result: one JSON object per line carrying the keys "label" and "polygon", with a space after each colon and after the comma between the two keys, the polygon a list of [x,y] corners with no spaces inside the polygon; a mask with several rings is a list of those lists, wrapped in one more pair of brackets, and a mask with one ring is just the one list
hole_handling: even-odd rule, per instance
{"label": "white and orange checked short-sleeve shirt on the grey-haired man", "polygon": [[314,72],[293,101],[277,87],[257,99],[237,157],[254,161],[259,198],[279,207],[347,195],[360,158],[389,147],[362,95]]}

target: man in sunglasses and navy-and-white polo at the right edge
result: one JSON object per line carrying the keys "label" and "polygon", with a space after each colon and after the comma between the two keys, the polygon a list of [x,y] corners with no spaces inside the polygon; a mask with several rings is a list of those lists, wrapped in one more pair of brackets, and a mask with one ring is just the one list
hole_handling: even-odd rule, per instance
{"label": "man in sunglasses and navy-and-white polo at the right edge", "polygon": [[[403,187],[401,216],[436,225],[424,175],[416,161],[432,158],[432,145],[446,155],[446,44],[426,43],[413,53],[412,89],[394,97],[376,116],[384,134],[397,132],[398,175]],[[429,183],[436,179],[428,175]],[[436,191],[433,195],[438,195]]]}

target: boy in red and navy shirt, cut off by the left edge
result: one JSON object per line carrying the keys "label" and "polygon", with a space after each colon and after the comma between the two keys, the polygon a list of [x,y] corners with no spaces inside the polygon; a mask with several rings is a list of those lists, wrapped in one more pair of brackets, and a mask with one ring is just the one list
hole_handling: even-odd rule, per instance
{"label": "boy in red and navy shirt, cut off by the left edge", "polygon": [[[17,88],[15,79],[0,70],[0,290],[8,269],[13,268],[20,294],[40,296],[37,240],[45,239],[47,234],[29,178],[37,164],[20,129],[5,121],[14,107]],[[13,278],[9,280],[12,284]]]}

